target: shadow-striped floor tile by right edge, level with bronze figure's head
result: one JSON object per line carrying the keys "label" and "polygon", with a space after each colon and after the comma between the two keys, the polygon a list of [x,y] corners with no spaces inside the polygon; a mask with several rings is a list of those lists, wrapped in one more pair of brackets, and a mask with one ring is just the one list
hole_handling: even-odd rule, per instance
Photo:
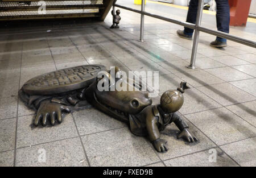
{"label": "shadow-striped floor tile by right edge, level with bronze figure's head", "polygon": [[200,86],[197,89],[224,106],[255,100],[252,95],[229,83]]}

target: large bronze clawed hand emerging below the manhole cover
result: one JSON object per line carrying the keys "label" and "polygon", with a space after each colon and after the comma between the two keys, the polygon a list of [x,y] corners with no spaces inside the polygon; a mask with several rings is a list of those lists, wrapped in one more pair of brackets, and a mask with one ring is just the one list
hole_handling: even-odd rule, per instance
{"label": "large bronze clawed hand emerging below the manhole cover", "polygon": [[70,113],[70,109],[67,106],[52,103],[51,101],[43,101],[36,113],[34,125],[38,126],[40,120],[42,119],[42,125],[46,126],[46,120],[51,119],[51,125],[55,124],[55,118],[57,122],[61,123],[61,112]]}

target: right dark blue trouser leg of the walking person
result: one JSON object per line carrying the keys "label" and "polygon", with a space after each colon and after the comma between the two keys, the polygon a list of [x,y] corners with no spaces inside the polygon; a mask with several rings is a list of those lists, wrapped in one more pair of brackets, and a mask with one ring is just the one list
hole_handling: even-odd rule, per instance
{"label": "right dark blue trouser leg of the walking person", "polygon": [[[215,0],[217,5],[216,21],[218,31],[229,33],[229,2],[228,0]],[[217,36],[216,40],[226,42],[226,39]]]}

